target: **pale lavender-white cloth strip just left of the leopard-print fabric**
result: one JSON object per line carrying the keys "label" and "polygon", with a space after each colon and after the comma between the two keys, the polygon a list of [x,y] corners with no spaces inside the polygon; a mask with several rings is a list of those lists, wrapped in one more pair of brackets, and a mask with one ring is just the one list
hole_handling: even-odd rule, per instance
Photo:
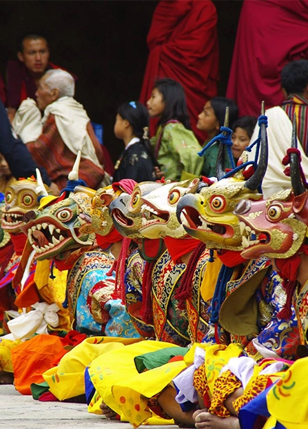
{"label": "pale lavender-white cloth strip just left of the leopard-print fabric", "polygon": [[176,402],[184,403],[190,401],[195,403],[198,401],[198,393],[193,385],[194,372],[204,363],[204,361],[205,350],[203,350],[203,348],[196,347],[194,363],[173,379],[174,385],[178,388]]}

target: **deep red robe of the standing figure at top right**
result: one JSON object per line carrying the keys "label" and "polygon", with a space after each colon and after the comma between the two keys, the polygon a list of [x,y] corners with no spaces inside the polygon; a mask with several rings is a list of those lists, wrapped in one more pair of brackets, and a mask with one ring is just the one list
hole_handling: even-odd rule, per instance
{"label": "deep red robe of the standing figure at top right", "polygon": [[258,116],[262,100],[267,108],[283,102],[281,70],[308,59],[307,20],[307,1],[244,0],[227,87],[240,116]]}

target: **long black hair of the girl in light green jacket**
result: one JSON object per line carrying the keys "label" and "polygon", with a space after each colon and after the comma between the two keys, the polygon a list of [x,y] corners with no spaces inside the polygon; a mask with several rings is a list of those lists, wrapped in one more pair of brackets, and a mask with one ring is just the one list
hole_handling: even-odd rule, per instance
{"label": "long black hair of the girl in light green jacket", "polygon": [[177,119],[187,130],[191,130],[189,115],[187,112],[186,97],[181,83],[165,77],[155,82],[154,88],[157,88],[163,96],[165,109],[159,120],[159,124],[165,125],[170,119]]}

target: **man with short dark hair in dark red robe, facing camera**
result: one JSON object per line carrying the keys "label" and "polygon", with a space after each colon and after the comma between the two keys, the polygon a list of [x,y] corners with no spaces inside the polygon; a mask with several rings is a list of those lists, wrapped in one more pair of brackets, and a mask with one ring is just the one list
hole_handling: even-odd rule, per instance
{"label": "man with short dark hair in dark red robe, facing camera", "polygon": [[27,34],[21,40],[17,52],[18,60],[8,61],[7,92],[8,115],[12,121],[21,101],[30,97],[34,99],[39,80],[50,69],[59,66],[49,61],[48,42],[40,34]]}

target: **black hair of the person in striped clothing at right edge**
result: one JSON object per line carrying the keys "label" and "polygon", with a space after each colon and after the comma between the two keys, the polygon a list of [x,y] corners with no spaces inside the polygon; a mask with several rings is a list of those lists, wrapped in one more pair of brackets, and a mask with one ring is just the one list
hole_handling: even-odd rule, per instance
{"label": "black hair of the person in striped clothing at right edge", "polygon": [[287,94],[302,94],[308,85],[308,60],[300,59],[287,64],[281,72],[281,86]]}

